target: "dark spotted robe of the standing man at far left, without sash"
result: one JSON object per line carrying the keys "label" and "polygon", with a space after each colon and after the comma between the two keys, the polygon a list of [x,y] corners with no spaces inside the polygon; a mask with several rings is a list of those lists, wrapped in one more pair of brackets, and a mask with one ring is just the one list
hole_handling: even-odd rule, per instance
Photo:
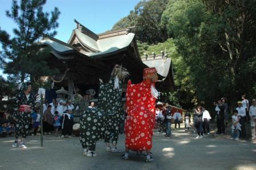
{"label": "dark spotted robe of the standing man at far left, without sash", "polygon": [[19,106],[22,104],[26,104],[31,106],[30,108],[34,109],[34,103],[35,98],[34,94],[31,92],[29,98],[27,99],[27,96],[25,92],[20,92],[15,97],[15,104],[14,104],[14,115],[13,118],[15,120],[15,137],[18,138],[19,135],[22,135],[22,137],[27,137],[29,133],[29,124],[31,115],[29,112],[19,112]]}

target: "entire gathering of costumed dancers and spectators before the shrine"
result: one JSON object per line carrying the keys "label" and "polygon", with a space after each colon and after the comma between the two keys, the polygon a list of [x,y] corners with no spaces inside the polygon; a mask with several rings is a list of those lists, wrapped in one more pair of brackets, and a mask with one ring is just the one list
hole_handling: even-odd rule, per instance
{"label": "entire gathering of costumed dancers and spectators before the shrine", "polygon": [[[149,74],[155,75],[156,71],[153,71],[149,72]],[[150,79],[154,79],[154,77]],[[154,89],[150,79],[143,80],[141,84],[131,84],[129,81],[129,88],[127,88],[126,94],[126,116],[125,112],[122,112],[121,81],[113,76],[113,80],[110,80],[109,83],[101,84],[102,92],[99,95],[100,102],[98,102],[98,108],[95,107],[94,102],[91,102],[89,109],[85,110],[80,117],[83,131],[80,132],[79,139],[84,150],[84,155],[96,156],[95,143],[103,133],[105,134],[107,151],[121,152],[117,148],[118,133],[122,131],[122,129],[120,130],[121,124],[125,128],[126,134],[126,149],[123,159],[129,159],[129,151],[132,150],[138,153],[146,151],[146,161],[153,161],[150,151],[154,127],[161,132],[166,132],[165,137],[171,137],[173,136],[171,133],[171,123],[174,122],[175,129],[180,129],[181,120],[184,120],[185,131],[189,131],[191,127],[190,112],[186,112],[183,118],[181,112],[175,109],[175,107],[169,106],[168,103],[165,103],[165,106],[161,108],[157,107],[155,110],[155,99],[157,99],[155,96],[158,95],[158,92]],[[116,90],[114,94],[112,94],[113,89]],[[142,94],[142,90],[147,94]],[[113,96],[113,100],[108,101],[105,96]],[[149,98],[149,100],[146,100],[146,98]],[[118,101],[115,102],[114,99],[118,99]],[[253,104],[250,106],[249,100],[246,99],[245,95],[242,96],[242,99],[242,101],[237,102],[238,107],[235,108],[234,114],[231,117],[231,139],[238,140],[239,137],[246,139],[245,125],[246,122],[250,122],[251,139],[255,140],[256,100],[251,100]],[[141,101],[143,104],[140,103]],[[226,128],[229,127],[229,106],[227,105],[227,99],[221,98],[217,102],[214,102],[214,106],[217,120],[217,134],[223,135],[226,133]],[[43,110],[42,118],[40,114],[41,109]],[[34,95],[31,91],[31,84],[23,83],[21,92],[17,95],[15,101],[14,122],[1,122],[0,134],[14,133],[15,141],[12,146],[26,148],[24,139],[29,135],[30,128],[32,135],[39,135],[42,127],[41,120],[43,120],[43,132],[45,132],[45,135],[51,134],[53,131],[55,135],[58,135],[60,130],[60,138],[65,137],[65,135],[71,137],[74,117],[73,111],[75,109],[77,108],[74,108],[71,100],[66,103],[63,100],[57,102],[55,99],[50,104],[45,100],[43,108],[41,108],[41,104],[37,101],[35,102]],[[175,112],[172,114],[172,110],[174,109]],[[5,115],[1,114],[0,116],[2,118]],[[122,117],[126,117],[126,120],[124,121]],[[197,106],[194,109],[193,125],[194,131],[197,131],[198,134],[196,138],[203,138],[204,135],[210,134],[209,122],[211,119],[209,111],[204,107]],[[85,125],[88,127],[86,128]],[[97,136],[95,136],[94,132]],[[20,142],[18,141],[19,135],[21,135]],[[111,138],[112,146],[110,147]]]}

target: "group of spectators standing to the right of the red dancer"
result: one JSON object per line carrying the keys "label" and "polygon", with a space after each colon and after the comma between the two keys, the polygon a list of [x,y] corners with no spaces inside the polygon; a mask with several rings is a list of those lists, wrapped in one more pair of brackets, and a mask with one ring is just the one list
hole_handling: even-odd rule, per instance
{"label": "group of spectators standing to the right of the red dancer", "polygon": [[[242,95],[242,101],[237,102],[237,107],[233,111],[233,115],[229,116],[230,109],[226,98],[221,98],[214,102],[215,106],[215,122],[217,124],[216,135],[229,135],[227,128],[231,129],[231,140],[247,139],[246,125],[251,128],[251,140],[255,140],[256,136],[256,99],[246,99],[246,95]],[[189,131],[191,114],[186,112],[185,115],[176,110],[171,114],[171,108],[168,103],[165,106],[157,107],[155,111],[155,129],[158,132],[165,132],[165,136],[171,136],[171,122],[174,122],[174,128],[180,128],[180,121],[183,119],[185,131]],[[197,132],[197,139],[203,138],[205,135],[210,135],[210,120],[211,114],[202,106],[197,106],[193,114],[194,132]],[[231,124],[229,124],[231,123]],[[247,124],[246,124],[247,123]]]}

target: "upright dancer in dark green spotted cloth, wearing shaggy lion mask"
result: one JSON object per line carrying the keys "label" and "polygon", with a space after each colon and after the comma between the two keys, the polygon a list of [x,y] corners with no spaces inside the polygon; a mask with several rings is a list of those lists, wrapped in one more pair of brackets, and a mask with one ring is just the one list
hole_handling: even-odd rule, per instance
{"label": "upright dancer in dark green spotted cloth, wearing shaggy lion mask", "polygon": [[[100,79],[99,84],[98,108],[107,114],[108,119],[108,131],[105,134],[106,149],[114,153],[121,152],[117,148],[117,140],[119,128],[125,115],[122,106],[122,81],[125,80],[127,75],[129,75],[129,72],[126,68],[115,65],[109,82],[103,84]],[[112,148],[110,147],[110,135],[113,135]]]}

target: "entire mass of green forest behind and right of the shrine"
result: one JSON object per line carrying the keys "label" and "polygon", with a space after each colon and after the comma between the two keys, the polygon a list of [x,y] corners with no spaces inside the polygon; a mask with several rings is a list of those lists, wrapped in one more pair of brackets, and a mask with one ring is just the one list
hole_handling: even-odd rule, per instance
{"label": "entire mass of green forest behind and right of the shrine", "polygon": [[141,1],[113,30],[135,25],[141,55],[169,53],[177,86],[173,104],[212,107],[225,96],[232,111],[242,94],[256,95],[255,9],[249,0]]}

